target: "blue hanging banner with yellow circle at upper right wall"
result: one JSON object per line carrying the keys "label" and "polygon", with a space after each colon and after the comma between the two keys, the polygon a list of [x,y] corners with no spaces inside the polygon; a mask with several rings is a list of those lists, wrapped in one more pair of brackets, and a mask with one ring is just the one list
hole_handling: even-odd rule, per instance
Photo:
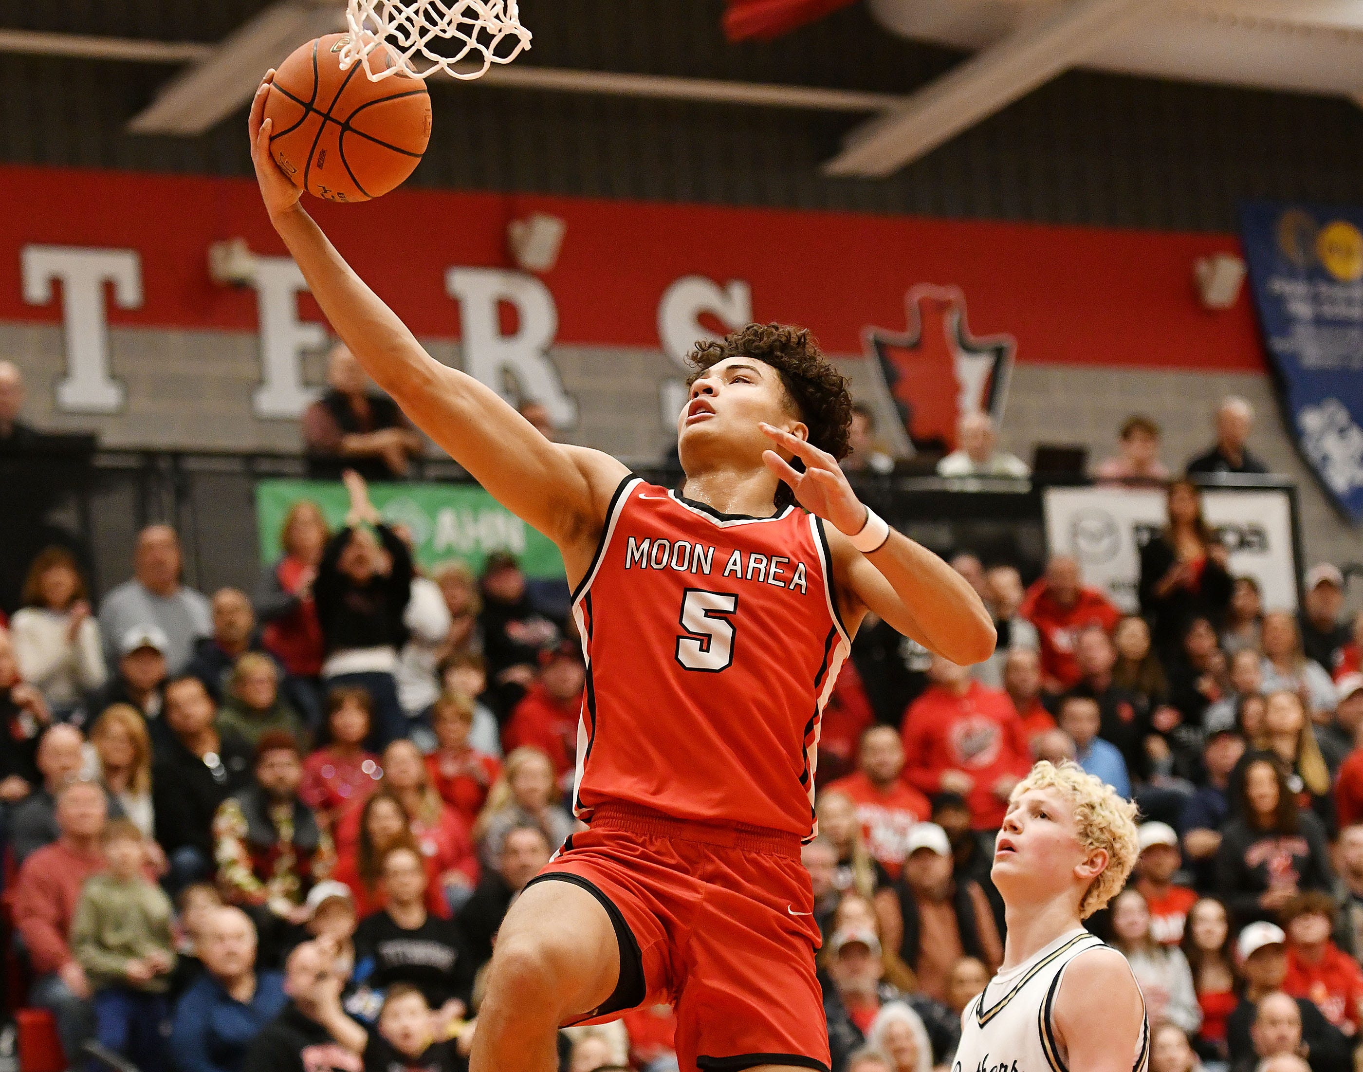
{"label": "blue hanging banner with yellow circle at upper right wall", "polygon": [[1363,521],[1363,207],[1250,202],[1244,259],[1303,457]]}

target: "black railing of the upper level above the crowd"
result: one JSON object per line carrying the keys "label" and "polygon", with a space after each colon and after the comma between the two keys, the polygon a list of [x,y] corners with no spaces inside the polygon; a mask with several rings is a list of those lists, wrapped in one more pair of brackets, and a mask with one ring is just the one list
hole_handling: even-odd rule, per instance
{"label": "black railing of the upper level above the crowd", "polygon": [[[680,473],[639,471],[676,486]],[[23,574],[49,543],[75,548],[101,596],[132,571],[136,533],[168,522],[181,536],[185,581],[211,592],[249,589],[260,569],[255,486],[267,477],[307,477],[296,454],[181,450],[40,450],[0,457],[0,607],[16,606]],[[463,481],[453,461],[418,458],[410,479]],[[1212,479],[1209,486],[1287,488],[1292,495],[1296,563],[1296,494],[1281,477]],[[970,551],[1015,563],[1025,580],[1045,561],[1041,487],[1014,480],[943,480],[878,476],[857,490],[900,531],[939,554]],[[1363,578],[1363,563],[1345,563]]]}

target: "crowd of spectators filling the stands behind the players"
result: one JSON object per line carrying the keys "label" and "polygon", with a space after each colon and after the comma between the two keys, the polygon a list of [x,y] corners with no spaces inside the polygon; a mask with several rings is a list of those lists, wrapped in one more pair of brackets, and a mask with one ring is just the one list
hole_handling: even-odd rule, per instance
{"label": "crowd of spectators filling the stands behind the players", "polygon": [[[395,475],[414,441],[348,361],[309,434]],[[1249,419],[1221,408],[1199,471],[1254,471]],[[1103,476],[1165,480],[1157,441],[1127,421]],[[1020,475],[984,420],[962,451],[962,473]],[[49,1009],[71,1068],[95,1043],[142,1072],[459,1069],[502,919],[575,827],[585,668],[562,603],[507,554],[427,576],[341,475],[345,525],[294,505],[251,593],[194,591],[153,525],[97,608],[71,554],[40,554],[0,630],[4,904],[27,975],[7,1004]],[[1066,555],[1026,585],[962,551],[994,657],[859,630],[803,854],[834,1072],[950,1067],[1003,959],[992,833],[1037,758],[1144,813],[1131,882],[1090,926],[1141,982],[1156,1072],[1351,1067],[1363,615],[1345,621],[1328,563],[1300,612],[1265,608],[1198,488],[1167,488],[1138,612]],[[672,1032],[668,1007],[638,1009],[563,1032],[562,1065],[667,1072]]]}

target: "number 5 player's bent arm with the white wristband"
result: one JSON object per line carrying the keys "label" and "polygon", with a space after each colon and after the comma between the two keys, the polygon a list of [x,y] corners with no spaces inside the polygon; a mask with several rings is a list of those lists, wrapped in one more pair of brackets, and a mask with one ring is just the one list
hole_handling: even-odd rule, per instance
{"label": "number 5 player's bent arm with the white wristband", "polygon": [[[861,531],[867,507],[857,499],[837,460],[799,436],[763,424],[773,445],[804,462],[796,472],[776,450],[763,454],[767,468],[795,491],[796,502],[829,522],[829,550],[836,580],[842,592],[851,589],[861,610],[912,637],[924,648],[958,666],[983,661],[994,653],[995,631],[979,593],[940,556],[890,529],[878,551],[863,555],[848,536]],[[845,607],[846,611],[852,608]]]}

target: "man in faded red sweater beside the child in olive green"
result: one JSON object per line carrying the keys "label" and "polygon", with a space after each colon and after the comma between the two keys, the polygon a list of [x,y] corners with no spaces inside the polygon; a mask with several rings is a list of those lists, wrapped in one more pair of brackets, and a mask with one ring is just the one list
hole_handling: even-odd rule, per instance
{"label": "man in faded red sweater beside the child in olive green", "polygon": [[[71,953],[67,936],[80,887],[104,870],[99,840],[106,809],[104,790],[94,781],[74,781],[60,790],[60,836],[25,859],[10,892],[14,926],[29,951],[35,977],[29,1000],[52,1011],[61,1047],[68,1054],[79,1054],[94,1030],[93,989]],[[76,1067],[74,1058],[71,1067]]]}

